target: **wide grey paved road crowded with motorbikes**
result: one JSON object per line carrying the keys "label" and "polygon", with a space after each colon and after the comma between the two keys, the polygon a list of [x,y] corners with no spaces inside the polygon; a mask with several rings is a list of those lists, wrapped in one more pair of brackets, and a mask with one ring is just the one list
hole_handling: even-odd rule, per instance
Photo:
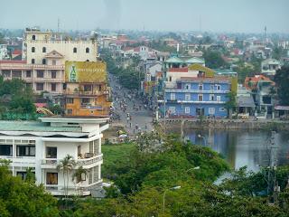
{"label": "wide grey paved road crowded with motorbikes", "polygon": [[[117,78],[109,74],[109,83],[113,92],[114,111],[120,116],[120,120],[113,120],[113,124],[122,124],[130,136],[138,132],[152,131],[153,114],[149,109],[144,109],[144,104],[140,99],[134,97],[134,93],[122,87]],[[121,105],[126,104],[126,111],[121,109]],[[137,110],[134,109],[138,108]],[[141,109],[139,109],[141,108]],[[131,120],[127,120],[127,113]]]}

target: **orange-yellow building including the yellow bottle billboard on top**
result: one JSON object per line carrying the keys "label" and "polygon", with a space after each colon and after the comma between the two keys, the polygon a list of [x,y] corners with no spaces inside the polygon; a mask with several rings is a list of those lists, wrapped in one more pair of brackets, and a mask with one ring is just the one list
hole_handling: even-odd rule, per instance
{"label": "orange-yellow building including the yellow bottle billboard on top", "polygon": [[111,102],[105,62],[66,61],[65,82],[67,116],[108,116]]}

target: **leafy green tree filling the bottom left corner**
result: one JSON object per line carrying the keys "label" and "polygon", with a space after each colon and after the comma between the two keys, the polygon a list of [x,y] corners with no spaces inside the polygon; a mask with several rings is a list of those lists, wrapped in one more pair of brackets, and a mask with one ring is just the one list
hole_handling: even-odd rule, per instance
{"label": "leafy green tree filling the bottom left corner", "polygon": [[13,176],[9,164],[0,160],[0,216],[59,216],[57,200],[42,185]]}

